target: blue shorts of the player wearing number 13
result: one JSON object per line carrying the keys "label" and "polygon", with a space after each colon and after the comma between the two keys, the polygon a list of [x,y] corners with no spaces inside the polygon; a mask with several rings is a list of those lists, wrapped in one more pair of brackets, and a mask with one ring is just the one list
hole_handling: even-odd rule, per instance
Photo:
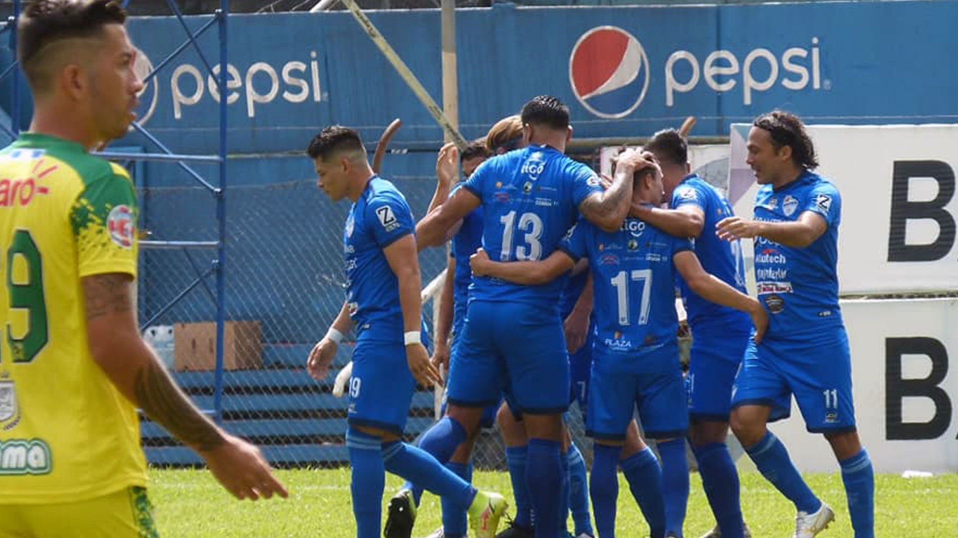
{"label": "blue shorts of the player wearing number 13", "polygon": [[508,391],[519,413],[549,415],[568,408],[569,356],[558,309],[470,301],[451,363],[451,404],[487,407]]}

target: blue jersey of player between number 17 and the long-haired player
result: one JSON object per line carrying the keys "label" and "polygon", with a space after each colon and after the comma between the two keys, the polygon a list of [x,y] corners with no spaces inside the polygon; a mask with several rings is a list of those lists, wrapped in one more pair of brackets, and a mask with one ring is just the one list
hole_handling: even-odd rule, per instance
{"label": "blue jersey of player between number 17 and the long-haired player", "polygon": [[[747,293],[740,241],[726,241],[716,235],[716,223],[734,214],[728,200],[708,182],[696,174],[690,174],[675,187],[670,207],[678,209],[690,205],[700,209],[704,215],[702,233],[695,241],[696,257],[702,268],[741,293]],[[716,325],[725,326],[730,318],[751,325],[746,313],[702,299],[689,288],[681,276],[678,278],[678,287],[682,292],[685,309],[689,314],[689,325],[693,330],[700,323],[715,322]]]}

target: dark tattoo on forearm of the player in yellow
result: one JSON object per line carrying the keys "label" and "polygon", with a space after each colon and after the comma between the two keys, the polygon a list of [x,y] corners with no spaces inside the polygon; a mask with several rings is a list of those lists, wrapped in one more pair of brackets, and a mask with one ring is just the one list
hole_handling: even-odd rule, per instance
{"label": "dark tattoo on forearm of the player in yellow", "polygon": [[213,450],[225,439],[217,427],[173,384],[170,374],[155,361],[136,373],[133,393],[150,419],[199,451]]}

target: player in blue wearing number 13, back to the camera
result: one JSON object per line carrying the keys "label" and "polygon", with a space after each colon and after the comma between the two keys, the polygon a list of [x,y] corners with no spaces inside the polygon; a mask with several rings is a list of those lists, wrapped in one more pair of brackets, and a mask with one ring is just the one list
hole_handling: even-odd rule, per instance
{"label": "player in blue wearing number 13, back to the camera", "polygon": [[[568,108],[541,96],[522,109],[528,146],[493,157],[463,189],[417,226],[423,245],[483,207],[483,245],[503,260],[539,259],[551,252],[581,212],[604,229],[618,229],[628,211],[632,170],[645,163],[628,152],[611,187],[602,190],[590,168],[563,154],[571,136]],[[564,476],[562,412],[568,406],[569,365],[559,318],[564,279],[540,286],[473,278],[462,340],[453,349],[449,413],[437,424],[458,446],[475,431],[482,408],[502,390],[523,414],[529,438],[526,482],[536,536],[556,538]],[[445,424],[444,424],[445,421]]]}

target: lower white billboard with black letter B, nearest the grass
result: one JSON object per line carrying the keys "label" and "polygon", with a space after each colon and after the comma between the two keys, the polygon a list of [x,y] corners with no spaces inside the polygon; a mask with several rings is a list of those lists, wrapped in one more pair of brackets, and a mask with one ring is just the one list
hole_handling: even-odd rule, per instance
{"label": "lower white billboard with black letter B, nearest the grass", "polygon": [[[841,303],[852,349],[855,417],[878,472],[958,470],[958,300]],[[951,365],[955,362],[955,365]],[[802,471],[838,469],[824,437],[791,417],[771,425]]]}

